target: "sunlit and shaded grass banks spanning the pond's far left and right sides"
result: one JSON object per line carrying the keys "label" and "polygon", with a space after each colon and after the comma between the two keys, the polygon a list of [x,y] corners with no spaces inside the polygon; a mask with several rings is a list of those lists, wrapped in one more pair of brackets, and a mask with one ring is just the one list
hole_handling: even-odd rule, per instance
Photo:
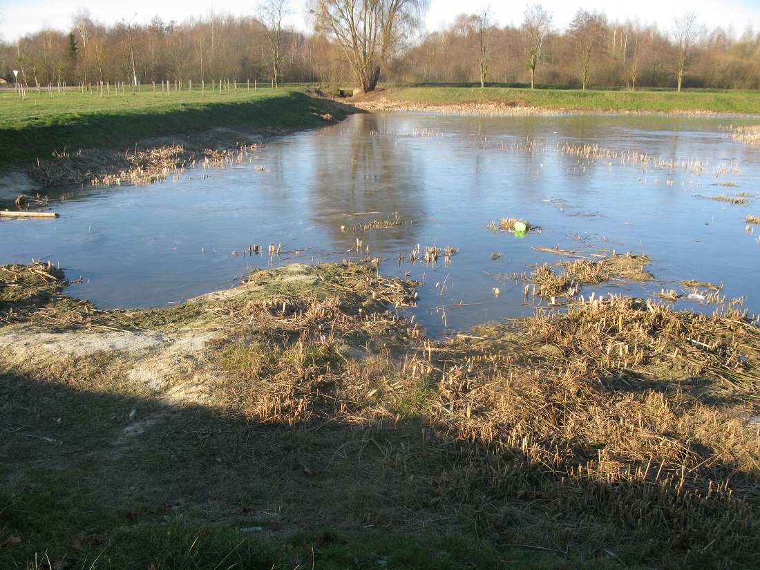
{"label": "sunlit and shaded grass banks spanning the pond's far left and right sides", "polygon": [[[473,106],[568,112],[678,112],[760,114],[760,93],[749,91],[610,91],[513,87],[387,87],[345,100],[367,108],[467,111]],[[383,103],[380,103],[383,102]],[[379,106],[378,106],[379,105]],[[383,106],[385,105],[385,107]],[[22,100],[0,91],[0,169],[30,166],[38,158],[80,149],[134,147],[150,139],[196,135],[215,128],[281,133],[343,119],[350,108],[299,90],[211,90],[103,94],[68,89]]]}

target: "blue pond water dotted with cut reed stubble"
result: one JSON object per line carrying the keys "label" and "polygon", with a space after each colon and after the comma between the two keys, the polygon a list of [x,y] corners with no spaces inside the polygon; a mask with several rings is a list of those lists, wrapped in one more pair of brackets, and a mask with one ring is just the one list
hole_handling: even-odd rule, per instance
{"label": "blue pond water dotted with cut reed stubble", "polygon": [[[72,190],[52,203],[56,220],[0,221],[0,264],[60,264],[69,279],[82,278],[70,295],[112,309],[235,287],[252,268],[375,258],[381,274],[424,283],[420,306],[408,312],[442,334],[531,314],[540,299],[526,298],[525,283],[508,276],[568,259],[546,248],[586,258],[632,252],[652,258],[656,280],[610,281],[580,294],[688,295],[694,289],[679,282],[698,280],[722,283],[721,296],[743,297],[758,314],[760,226],[744,220],[760,217],[760,149],[729,130],[758,123],[353,116],[270,141],[224,168]],[[503,217],[541,230],[489,230]],[[280,255],[269,255],[270,243]],[[249,255],[253,245],[258,255]],[[418,245],[422,254],[432,246],[458,253],[448,266],[443,255],[412,263]],[[676,308],[711,310],[687,298]]]}

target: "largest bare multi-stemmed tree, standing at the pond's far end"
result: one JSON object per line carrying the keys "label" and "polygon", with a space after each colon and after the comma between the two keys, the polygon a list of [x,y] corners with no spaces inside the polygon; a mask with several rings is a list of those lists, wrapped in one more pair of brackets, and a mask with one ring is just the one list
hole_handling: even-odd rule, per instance
{"label": "largest bare multi-stemmed tree, standing at the pond's far end", "polygon": [[429,0],[309,0],[317,30],[333,36],[359,86],[374,91],[380,70],[420,29]]}

